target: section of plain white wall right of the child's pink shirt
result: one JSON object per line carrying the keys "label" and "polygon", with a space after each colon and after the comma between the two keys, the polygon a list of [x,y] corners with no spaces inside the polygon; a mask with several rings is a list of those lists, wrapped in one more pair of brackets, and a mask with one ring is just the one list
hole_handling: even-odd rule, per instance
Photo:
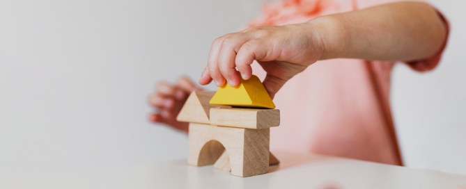
{"label": "section of plain white wall right of the child's pink shirt", "polygon": [[466,2],[429,2],[449,19],[448,46],[433,72],[394,69],[394,121],[407,166],[466,174]]}

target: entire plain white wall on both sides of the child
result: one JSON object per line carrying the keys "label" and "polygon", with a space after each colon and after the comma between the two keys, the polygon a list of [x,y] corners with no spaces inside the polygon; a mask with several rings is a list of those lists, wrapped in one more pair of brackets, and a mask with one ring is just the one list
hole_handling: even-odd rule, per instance
{"label": "entire plain white wall on both sides of the child", "polygon": [[[156,81],[199,77],[210,42],[262,1],[0,1],[1,170],[106,167],[185,158],[184,134],[147,121]],[[463,6],[435,72],[394,72],[392,101],[410,167],[466,174]]]}

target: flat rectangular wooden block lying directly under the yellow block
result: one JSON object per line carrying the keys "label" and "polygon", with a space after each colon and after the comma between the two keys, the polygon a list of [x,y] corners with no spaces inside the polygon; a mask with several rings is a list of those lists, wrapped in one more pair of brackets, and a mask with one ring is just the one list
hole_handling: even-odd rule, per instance
{"label": "flat rectangular wooden block lying directly under the yellow block", "polygon": [[210,108],[210,124],[247,129],[265,129],[280,125],[280,110],[251,108]]}

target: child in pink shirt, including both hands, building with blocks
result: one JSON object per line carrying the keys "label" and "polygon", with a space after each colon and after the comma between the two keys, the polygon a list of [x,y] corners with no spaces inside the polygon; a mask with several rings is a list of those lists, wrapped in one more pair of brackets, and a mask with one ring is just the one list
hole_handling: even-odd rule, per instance
{"label": "child in pink shirt, including both hands, building with blocks", "polygon": [[[254,69],[281,110],[281,126],[271,129],[272,148],[403,165],[389,107],[391,68],[403,62],[420,72],[433,69],[448,24],[427,3],[387,2],[284,0],[266,6],[255,27],[212,43],[199,83],[235,86]],[[150,97],[160,110],[153,122],[187,131],[175,117],[197,89],[187,78],[160,83]]]}

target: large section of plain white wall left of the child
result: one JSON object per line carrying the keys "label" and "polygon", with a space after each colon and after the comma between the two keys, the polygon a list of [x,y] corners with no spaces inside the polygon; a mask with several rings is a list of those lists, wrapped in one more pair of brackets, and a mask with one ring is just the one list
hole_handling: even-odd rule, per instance
{"label": "large section of plain white wall left of the child", "polygon": [[187,138],[150,124],[146,98],[197,79],[212,40],[259,4],[0,1],[0,169],[185,158]]}

